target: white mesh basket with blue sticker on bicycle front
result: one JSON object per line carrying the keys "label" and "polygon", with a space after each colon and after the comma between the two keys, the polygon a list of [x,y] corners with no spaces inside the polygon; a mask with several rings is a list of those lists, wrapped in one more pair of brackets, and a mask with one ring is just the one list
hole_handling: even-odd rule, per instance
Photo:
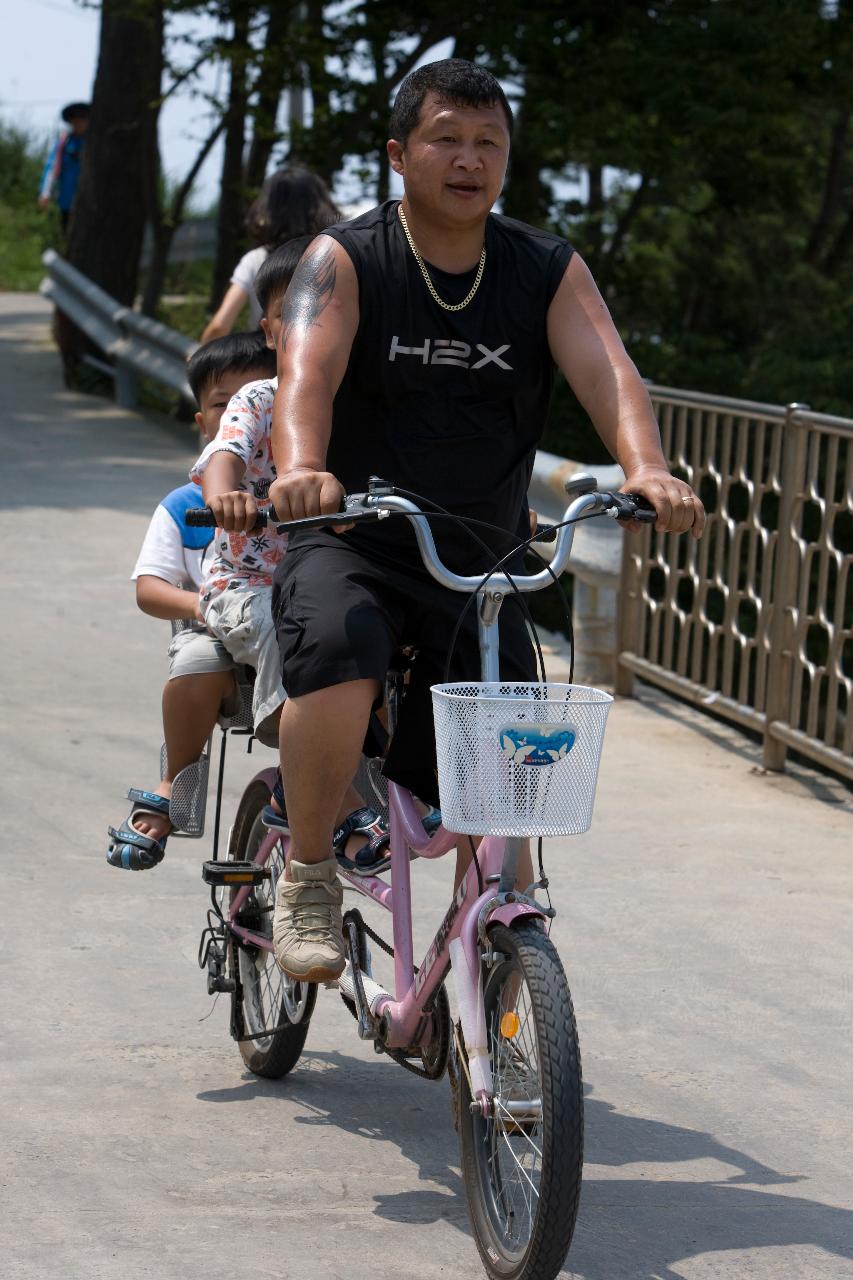
{"label": "white mesh basket with blue sticker on bicycle front", "polygon": [[471,836],[592,823],[610,694],[583,685],[433,685],[442,820]]}

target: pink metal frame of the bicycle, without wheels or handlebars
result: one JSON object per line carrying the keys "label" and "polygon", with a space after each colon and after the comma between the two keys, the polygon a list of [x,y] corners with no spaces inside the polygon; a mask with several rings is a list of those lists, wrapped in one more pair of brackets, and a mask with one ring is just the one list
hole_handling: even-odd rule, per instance
{"label": "pink metal frame of the bicycle, without wheels or handlebars", "polygon": [[[264,769],[254,781],[265,782],[270,790],[275,771]],[[443,858],[459,841],[459,836],[444,831],[428,836],[418,815],[410,791],[393,782],[388,783],[391,815],[391,883],[380,876],[353,876],[341,869],[339,874],[352,888],[369,897],[392,914],[394,940],[394,998],[382,997],[375,1016],[384,1028],[383,1043],[388,1048],[409,1048],[423,1042],[429,1028],[428,1005],[437,987],[443,982],[453,961],[453,979],[465,1048],[471,1075],[471,1093],[484,1110],[492,1096],[492,1073],[485,1043],[485,1015],[483,1010],[482,968],[479,948],[485,938],[487,923],[512,924],[523,916],[544,919],[544,913],[532,900],[515,893],[511,886],[502,892],[500,883],[507,852],[507,841],[487,836],[479,845],[478,860],[484,891],[479,892],[476,869],[467,868],[451,904],[438,925],[418,972],[412,957],[411,915],[411,863],[409,850],[419,858]],[[266,864],[278,841],[287,855],[289,840],[280,832],[270,831],[255,855],[259,867]],[[251,946],[273,950],[269,938],[254,933],[238,923],[237,916],[250,887],[241,888],[228,911],[228,928]]]}

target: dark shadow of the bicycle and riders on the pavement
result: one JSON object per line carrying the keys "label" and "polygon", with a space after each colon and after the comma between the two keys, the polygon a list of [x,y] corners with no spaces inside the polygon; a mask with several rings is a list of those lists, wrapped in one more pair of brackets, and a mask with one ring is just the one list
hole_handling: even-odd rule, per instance
{"label": "dark shadow of the bicycle and riders on the pavement", "polygon": [[[362,1083],[373,1079],[373,1088]],[[459,1146],[446,1085],[441,1097],[426,1082],[383,1080],[345,1053],[306,1053],[282,1082],[247,1076],[233,1088],[210,1089],[206,1102],[287,1097],[305,1106],[301,1125],[333,1125],[368,1142],[392,1142],[421,1180],[443,1190],[412,1188],[373,1194],[373,1212],[391,1222],[452,1222],[469,1233]],[[424,1093],[430,1089],[430,1094]],[[430,1102],[432,1097],[432,1102]],[[672,1267],[707,1253],[742,1253],[792,1245],[853,1257],[853,1212],[817,1201],[757,1190],[802,1181],[711,1134],[620,1114],[587,1091],[587,1149],[575,1240],[564,1276],[575,1280],[683,1280]],[[596,1178],[592,1169],[715,1161],[735,1172],[721,1178]],[[744,1185],[748,1184],[748,1185]],[[374,1184],[375,1185],[375,1184]],[[762,1272],[763,1274],[763,1272]],[[731,1271],[735,1275],[735,1271]]]}

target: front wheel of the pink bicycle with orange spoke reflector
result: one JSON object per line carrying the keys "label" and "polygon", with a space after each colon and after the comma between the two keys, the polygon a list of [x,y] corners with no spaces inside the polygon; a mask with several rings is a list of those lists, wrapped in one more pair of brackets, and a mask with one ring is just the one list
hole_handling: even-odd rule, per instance
{"label": "front wheel of the pink bicycle with orange spoke reflector", "polygon": [[583,1085],[560,957],[525,922],[489,932],[500,959],[483,992],[494,1114],[471,1111],[461,1073],[462,1176],[476,1247],[493,1280],[553,1280],[578,1216]]}

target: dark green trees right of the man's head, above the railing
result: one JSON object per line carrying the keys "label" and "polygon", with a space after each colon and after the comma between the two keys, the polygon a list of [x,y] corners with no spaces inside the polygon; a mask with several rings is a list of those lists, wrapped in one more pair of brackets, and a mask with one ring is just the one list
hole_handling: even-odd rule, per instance
{"label": "dark green trees right of the man's head, above the railing", "polygon": [[[511,211],[542,220],[546,173],[544,216],[651,380],[853,413],[850,6],[544,8],[487,37],[525,90]],[[579,457],[584,434],[558,394],[549,447]]]}

